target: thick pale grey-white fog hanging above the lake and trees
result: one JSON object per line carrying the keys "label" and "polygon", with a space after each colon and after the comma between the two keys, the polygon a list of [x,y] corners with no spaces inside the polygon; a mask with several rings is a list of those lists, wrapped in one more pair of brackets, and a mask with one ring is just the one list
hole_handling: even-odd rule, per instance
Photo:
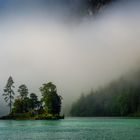
{"label": "thick pale grey-white fog hanging above the lake and trees", "polygon": [[139,68],[139,2],[120,1],[83,17],[66,3],[17,3],[0,10],[1,95],[10,75],[15,91],[26,84],[39,96],[39,87],[52,81],[66,110],[82,92]]}

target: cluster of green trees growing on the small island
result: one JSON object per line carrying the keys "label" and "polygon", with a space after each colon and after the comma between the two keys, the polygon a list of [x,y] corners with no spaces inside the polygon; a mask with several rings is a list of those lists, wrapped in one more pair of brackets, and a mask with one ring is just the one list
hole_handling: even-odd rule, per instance
{"label": "cluster of green trees growing on the small island", "polygon": [[18,87],[18,96],[15,97],[15,86],[10,76],[4,87],[3,97],[10,108],[11,114],[52,114],[59,115],[61,111],[62,97],[57,94],[56,85],[52,82],[43,84],[39,89],[41,99],[35,93],[30,93],[25,84]]}

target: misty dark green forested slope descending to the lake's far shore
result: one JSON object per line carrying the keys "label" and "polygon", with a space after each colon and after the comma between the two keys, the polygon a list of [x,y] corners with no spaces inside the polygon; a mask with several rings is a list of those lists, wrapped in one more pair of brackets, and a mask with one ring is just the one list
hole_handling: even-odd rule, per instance
{"label": "misty dark green forested slope descending to the lake's far shore", "polygon": [[[133,79],[133,80],[132,80]],[[140,116],[140,72],[91,90],[72,105],[72,116]]]}

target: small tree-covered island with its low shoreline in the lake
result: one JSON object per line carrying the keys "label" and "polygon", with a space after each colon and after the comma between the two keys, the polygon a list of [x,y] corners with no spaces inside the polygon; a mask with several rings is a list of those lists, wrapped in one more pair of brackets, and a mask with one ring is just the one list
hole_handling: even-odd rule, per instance
{"label": "small tree-covered island with its low shoreline in the lake", "polygon": [[60,115],[62,97],[57,94],[56,85],[52,82],[40,87],[41,99],[35,93],[30,93],[25,84],[18,87],[18,96],[15,98],[13,78],[10,76],[4,88],[4,100],[10,108],[7,116],[1,120],[58,120],[64,119]]}

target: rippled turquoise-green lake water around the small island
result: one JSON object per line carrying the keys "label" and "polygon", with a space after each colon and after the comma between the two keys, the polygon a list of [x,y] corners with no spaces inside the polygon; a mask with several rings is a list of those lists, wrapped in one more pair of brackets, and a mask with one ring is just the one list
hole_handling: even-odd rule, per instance
{"label": "rippled turquoise-green lake water around the small island", "polygon": [[140,140],[140,119],[0,120],[0,140]]}

